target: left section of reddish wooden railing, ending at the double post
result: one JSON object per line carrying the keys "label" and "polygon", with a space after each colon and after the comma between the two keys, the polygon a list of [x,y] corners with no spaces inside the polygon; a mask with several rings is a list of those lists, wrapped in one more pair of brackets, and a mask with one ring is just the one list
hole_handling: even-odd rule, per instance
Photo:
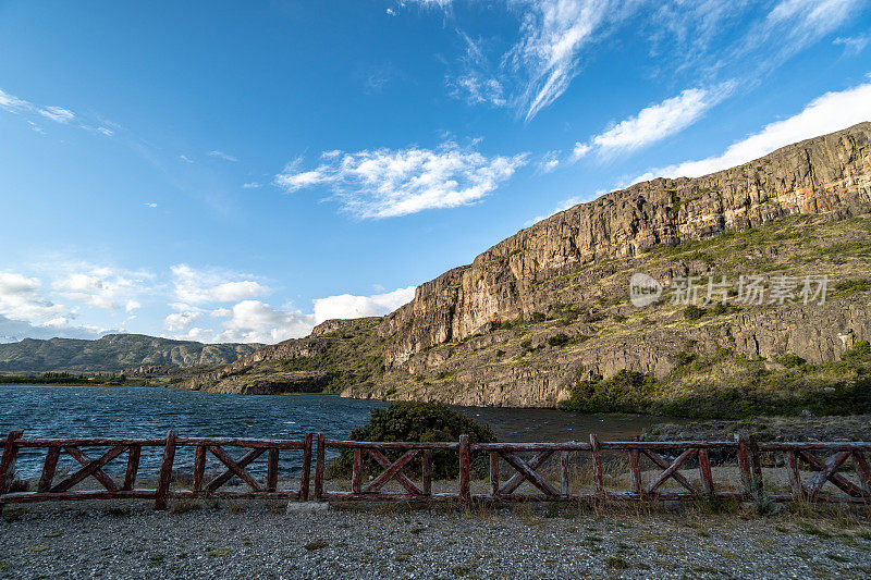
{"label": "left section of reddish wooden railing, ending at the double post", "polygon": [[[51,499],[115,499],[142,498],[154,499],[155,509],[163,509],[168,497],[271,497],[303,499],[309,497],[309,473],[311,471],[312,435],[307,433],[299,441],[291,440],[256,440],[230,437],[180,437],[176,431],[170,431],[165,439],[24,439],[22,431],[11,432],[3,443],[3,456],[0,460],[0,504],[45,502]],[[91,458],[82,451],[83,447],[99,447],[109,451],[97,458]],[[163,447],[158,477],[150,488],[137,486],[139,458],[143,447]],[[248,452],[234,459],[225,447],[245,448]],[[11,492],[15,472],[15,461],[20,449],[46,449],[42,473],[35,492]],[[194,468],[189,489],[172,489],[174,478],[173,464],[176,452],[193,449]],[[303,467],[298,489],[279,490],[279,454],[283,451],[302,451]],[[56,482],[56,471],[61,453],[65,452],[82,467],[69,477]],[[267,474],[265,481],[258,481],[248,469],[255,459],[267,455]],[[122,482],[115,481],[103,470],[112,460],[126,454],[126,471]],[[224,470],[206,481],[206,459],[212,455],[222,464]],[[246,491],[226,491],[220,488],[237,477],[247,485]],[[73,491],[73,488],[88,478],[96,479],[102,489]],[[179,482],[176,481],[176,484]]]}

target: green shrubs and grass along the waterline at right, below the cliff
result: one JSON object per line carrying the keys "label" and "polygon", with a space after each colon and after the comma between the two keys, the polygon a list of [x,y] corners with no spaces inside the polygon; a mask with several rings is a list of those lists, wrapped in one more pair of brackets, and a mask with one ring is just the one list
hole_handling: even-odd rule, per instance
{"label": "green shrubs and grass along the waterline at right, below the cliff", "polygon": [[734,358],[726,349],[686,351],[662,380],[623,370],[608,380],[578,381],[571,392],[562,407],[586,412],[707,419],[871,412],[871,345],[858,342],[842,360],[817,366],[788,354],[765,361]]}

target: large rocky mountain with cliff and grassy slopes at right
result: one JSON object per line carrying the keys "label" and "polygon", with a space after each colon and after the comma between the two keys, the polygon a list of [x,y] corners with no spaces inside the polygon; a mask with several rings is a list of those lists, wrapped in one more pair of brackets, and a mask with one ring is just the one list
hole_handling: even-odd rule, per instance
{"label": "large rocky mountain with cliff and grassy slopes at right", "polygon": [[[285,368],[345,396],[462,405],[601,400],[597,408],[650,411],[690,408],[704,393],[805,400],[859,384],[854,375],[863,372],[861,353],[859,367],[837,365],[845,354],[859,360],[854,350],[871,337],[870,210],[871,123],[861,123],[737,168],[575,206],[421,284],[380,320],[330,321],[188,386],[263,392]],[[686,276],[726,276],[733,299],[636,308],[636,272],[666,288]],[[741,275],[768,286],[825,275],[830,291],[822,305],[735,304]],[[373,357],[377,368],[360,366]],[[797,365],[778,360],[817,375],[799,381],[789,375]],[[329,374],[343,361],[365,371],[354,384]]]}

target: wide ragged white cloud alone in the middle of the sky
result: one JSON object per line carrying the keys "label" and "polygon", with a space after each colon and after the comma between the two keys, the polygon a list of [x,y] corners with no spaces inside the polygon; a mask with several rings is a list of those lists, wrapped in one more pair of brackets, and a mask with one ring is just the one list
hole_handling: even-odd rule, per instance
{"label": "wide ragged white cloud alone in the middle of the sky", "polygon": [[527,156],[487,157],[445,141],[438,149],[329,151],[324,162],[297,171],[298,160],[275,176],[285,192],[328,184],[345,210],[360,218],[393,218],[479,201],[526,163]]}

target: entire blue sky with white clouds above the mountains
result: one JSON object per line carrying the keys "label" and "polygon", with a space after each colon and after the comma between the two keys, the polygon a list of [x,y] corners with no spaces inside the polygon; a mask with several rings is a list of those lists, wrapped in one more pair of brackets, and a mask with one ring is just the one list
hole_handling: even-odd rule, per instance
{"label": "entire blue sky with white clouds above the mountains", "polygon": [[0,342],[275,343],[871,120],[871,0],[0,2]]}

